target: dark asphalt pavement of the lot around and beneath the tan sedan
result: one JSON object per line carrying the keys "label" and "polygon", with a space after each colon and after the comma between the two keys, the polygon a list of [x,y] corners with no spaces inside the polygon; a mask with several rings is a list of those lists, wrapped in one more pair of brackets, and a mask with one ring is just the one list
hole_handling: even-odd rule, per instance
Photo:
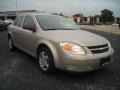
{"label": "dark asphalt pavement of the lot around and beneath the tan sedan", "polygon": [[111,42],[115,54],[109,67],[88,73],[57,70],[47,75],[35,58],[20,50],[9,51],[7,31],[0,31],[0,90],[120,90],[120,36],[91,32]]}

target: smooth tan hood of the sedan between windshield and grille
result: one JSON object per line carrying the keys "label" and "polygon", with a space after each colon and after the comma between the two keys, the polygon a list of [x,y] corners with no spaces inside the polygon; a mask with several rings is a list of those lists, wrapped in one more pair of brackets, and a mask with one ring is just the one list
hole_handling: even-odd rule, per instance
{"label": "smooth tan hood of the sedan between windshield and grille", "polygon": [[82,46],[96,46],[108,43],[108,40],[104,37],[84,30],[51,30],[45,32],[59,42],[69,41]]}

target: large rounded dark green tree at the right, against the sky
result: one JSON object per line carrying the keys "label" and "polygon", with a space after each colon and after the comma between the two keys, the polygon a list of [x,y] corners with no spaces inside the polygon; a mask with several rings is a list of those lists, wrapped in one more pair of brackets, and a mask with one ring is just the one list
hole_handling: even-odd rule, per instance
{"label": "large rounded dark green tree at the right, against the sky", "polygon": [[106,22],[113,22],[114,21],[114,16],[113,16],[113,12],[108,10],[108,9],[104,9],[101,11],[101,16],[100,16],[100,20],[103,23]]}

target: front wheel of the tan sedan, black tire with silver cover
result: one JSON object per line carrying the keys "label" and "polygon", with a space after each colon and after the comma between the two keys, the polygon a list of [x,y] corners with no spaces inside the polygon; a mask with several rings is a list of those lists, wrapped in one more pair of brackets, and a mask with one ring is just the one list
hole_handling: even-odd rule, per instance
{"label": "front wheel of the tan sedan, black tire with silver cover", "polygon": [[53,55],[47,47],[39,49],[38,60],[43,72],[51,74],[55,71]]}

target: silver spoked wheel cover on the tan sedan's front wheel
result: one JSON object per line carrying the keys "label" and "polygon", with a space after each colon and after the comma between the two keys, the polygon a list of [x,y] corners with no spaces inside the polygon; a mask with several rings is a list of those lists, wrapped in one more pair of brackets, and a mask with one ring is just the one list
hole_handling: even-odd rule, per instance
{"label": "silver spoked wheel cover on the tan sedan's front wheel", "polygon": [[39,64],[43,71],[46,71],[49,68],[48,60],[48,53],[45,51],[41,51],[39,54]]}

